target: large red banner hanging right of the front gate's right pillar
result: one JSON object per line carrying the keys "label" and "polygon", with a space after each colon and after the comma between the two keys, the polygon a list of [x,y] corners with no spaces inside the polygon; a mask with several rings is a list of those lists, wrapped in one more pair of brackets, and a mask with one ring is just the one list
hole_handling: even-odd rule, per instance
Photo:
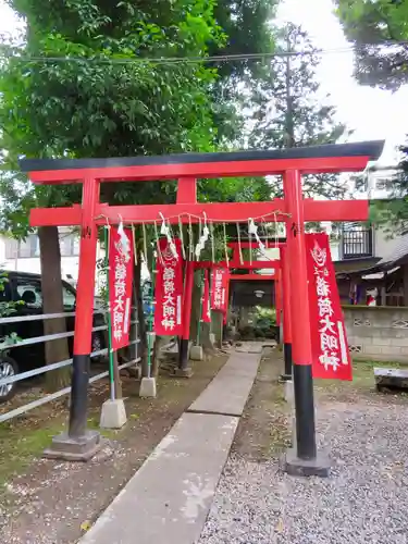
{"label": "large red banner hanging right of the front gate's right pillar", "polygon": [[306,234],[313,378],[353,380],[337,282],[326,234]]}

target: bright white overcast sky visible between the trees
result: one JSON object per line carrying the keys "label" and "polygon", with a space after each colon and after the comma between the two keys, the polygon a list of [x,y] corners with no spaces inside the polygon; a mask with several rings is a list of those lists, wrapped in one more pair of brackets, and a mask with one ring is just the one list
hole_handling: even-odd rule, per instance
{"label": "bright white overcast sky visible between the trees", "polygon": [[[331,95],[333,106],[337,107],[338,121],[355,129],[349,139],[385,139],[379,163],[395,163],[396,147],[406,141],[408,133],[408,86],[392,94],[357,84],[353,77],[353,51],[344,51],[349,45],[333,13],[331,0],[284,0],[277,15],[282,22],[301,25],[317,47],[343,49],[323,54],[319,70],[322,90]],[[0,0],[0,34],[13,33],[18,27],[21,23]]]}

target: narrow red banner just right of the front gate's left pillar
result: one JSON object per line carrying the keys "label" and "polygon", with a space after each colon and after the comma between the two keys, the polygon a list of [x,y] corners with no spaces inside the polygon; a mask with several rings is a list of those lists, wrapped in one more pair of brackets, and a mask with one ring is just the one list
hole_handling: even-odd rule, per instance
{"label": "narrow red banner just right of the front gate's left pillar", "polygon": [[109,305],[112,349],[129,343],[133,282],[133,239],[129,231],[111,226],[109,243]]}

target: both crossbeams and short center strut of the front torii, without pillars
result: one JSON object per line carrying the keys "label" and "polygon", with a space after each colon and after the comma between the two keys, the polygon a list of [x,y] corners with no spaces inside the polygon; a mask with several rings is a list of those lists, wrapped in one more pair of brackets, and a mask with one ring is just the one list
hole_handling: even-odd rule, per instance
{"label": "both crossbeams and short center strut of the front torii, without pillars", "polygon": [[[108,206],[95,202],[95,220],[103,224],[108,219],[115,223],[151,223],[161,212],[171,222],[182,215],[200,215],[206,212],[214,222],[245,222],[248,217],[259,218],[275,212],[276,221],[284,221],[285,201],[198,203],[198,177],[247,176],[284,174],[297,170],[300,174],[361,171],[382,151],[382,141],[313,146],[272,151],[239,151],[230,153],[185,153],[166,157],[136,157],[122,159],[23,159],[23,171],[28,172],[35,184],[71,184],[92,182],[125,182],[146,180],[177,180],[175,205]],[[306,221],[363,221],[368,203],[362,200],[337,202],[305,199]],[[32,211],[32,226],[78,225],[82,208],[49,208]],[[191,218],[195,222],[196,218]],[[184,219],[184,221],[187,221]]]}

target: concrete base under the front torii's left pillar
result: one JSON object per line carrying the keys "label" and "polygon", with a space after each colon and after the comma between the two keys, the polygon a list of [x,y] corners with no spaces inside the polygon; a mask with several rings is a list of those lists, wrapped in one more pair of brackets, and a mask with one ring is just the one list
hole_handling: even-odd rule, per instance
{"label": "concrete base under the front torii's left pillar", "polygon": [[101,436],[98,431],[86,431],[84,436],[72,437],[62,433],[52,438],[51,446],[42,457],[64,461],[88,461],[101,448]]}

